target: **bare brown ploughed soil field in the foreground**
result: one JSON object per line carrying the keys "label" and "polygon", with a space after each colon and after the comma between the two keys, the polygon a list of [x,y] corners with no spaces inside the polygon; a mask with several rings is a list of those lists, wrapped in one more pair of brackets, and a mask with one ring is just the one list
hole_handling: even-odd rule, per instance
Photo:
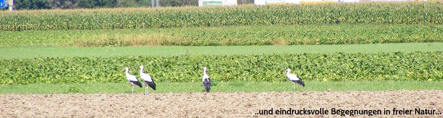
{"label": "bare brown ploughed soil field in the foreground", "polygon": [[[415,108],[443,113],[443,91],[297,91],[137,94],[0,94],[1,118],[253,118],[343,117],[277,115],[277,109],[390,110],[391,115],[346,115],[361,118],[443,118],[442,114],[416,115]],[[272,115],[256,115],[270,110]],[[412,110],[392,115],[392,109]]]}

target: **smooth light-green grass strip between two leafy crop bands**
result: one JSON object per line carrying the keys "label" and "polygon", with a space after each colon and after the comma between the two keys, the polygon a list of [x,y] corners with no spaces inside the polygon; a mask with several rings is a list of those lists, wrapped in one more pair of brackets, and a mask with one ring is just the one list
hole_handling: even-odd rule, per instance
{"label": "smooth light-green grass strip between two leafy crop bands", "polygon": [[379,53],[443,51],[443,42],[297,46],[123,46],[123,47],[0,47],[0,59],[36,57],[117,57],[174,55],[248,55],[281,53]]}

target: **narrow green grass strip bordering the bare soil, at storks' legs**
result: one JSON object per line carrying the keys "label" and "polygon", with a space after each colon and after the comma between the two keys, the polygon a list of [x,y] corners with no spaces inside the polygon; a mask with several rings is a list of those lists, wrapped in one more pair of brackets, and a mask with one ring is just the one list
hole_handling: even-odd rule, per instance
{"label": "narrow green grass strip bordering the bare soil, at storks' legs", "polygon": [[[211,87],[211,92],[265,92],[265,91],[389,91],[389,90],[443,90],[442,81],[346,81],[319,82],[305,81],[306,87],[292,88],[291,82],[253,82],[233,81],[217,82]],[[168,92],[202,92],[201,82],[158,82],[157,90],[149,88],[150,93]],[[144,87],[144,86],[143,86]],[[135,92],[144,93],[144,88],[135,87]],[[113,84],[26,84],[0,85],[0,94],[34,93],[34,94],[63,94],[63,93],[131,93],[128,83]]]}

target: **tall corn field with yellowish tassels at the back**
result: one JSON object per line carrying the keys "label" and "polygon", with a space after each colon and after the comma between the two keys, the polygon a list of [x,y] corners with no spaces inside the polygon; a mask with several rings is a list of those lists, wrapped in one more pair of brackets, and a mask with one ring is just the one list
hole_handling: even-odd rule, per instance
{"label": "tall corn field with yellowish tassels at the back", "polygon": [[441,2],[0,11],[0,30],[173,28],[269,24],[442,24]]}

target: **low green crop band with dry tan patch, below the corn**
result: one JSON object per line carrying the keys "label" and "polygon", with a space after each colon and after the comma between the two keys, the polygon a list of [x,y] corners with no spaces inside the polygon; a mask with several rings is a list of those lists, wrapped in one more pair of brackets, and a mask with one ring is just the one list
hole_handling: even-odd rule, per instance
{"label": "low green crop band with dry tan patch, below the corn", "polygon": [[443,25],[328,24],[2,31],[0,46],[251,46],[443,42]]}

